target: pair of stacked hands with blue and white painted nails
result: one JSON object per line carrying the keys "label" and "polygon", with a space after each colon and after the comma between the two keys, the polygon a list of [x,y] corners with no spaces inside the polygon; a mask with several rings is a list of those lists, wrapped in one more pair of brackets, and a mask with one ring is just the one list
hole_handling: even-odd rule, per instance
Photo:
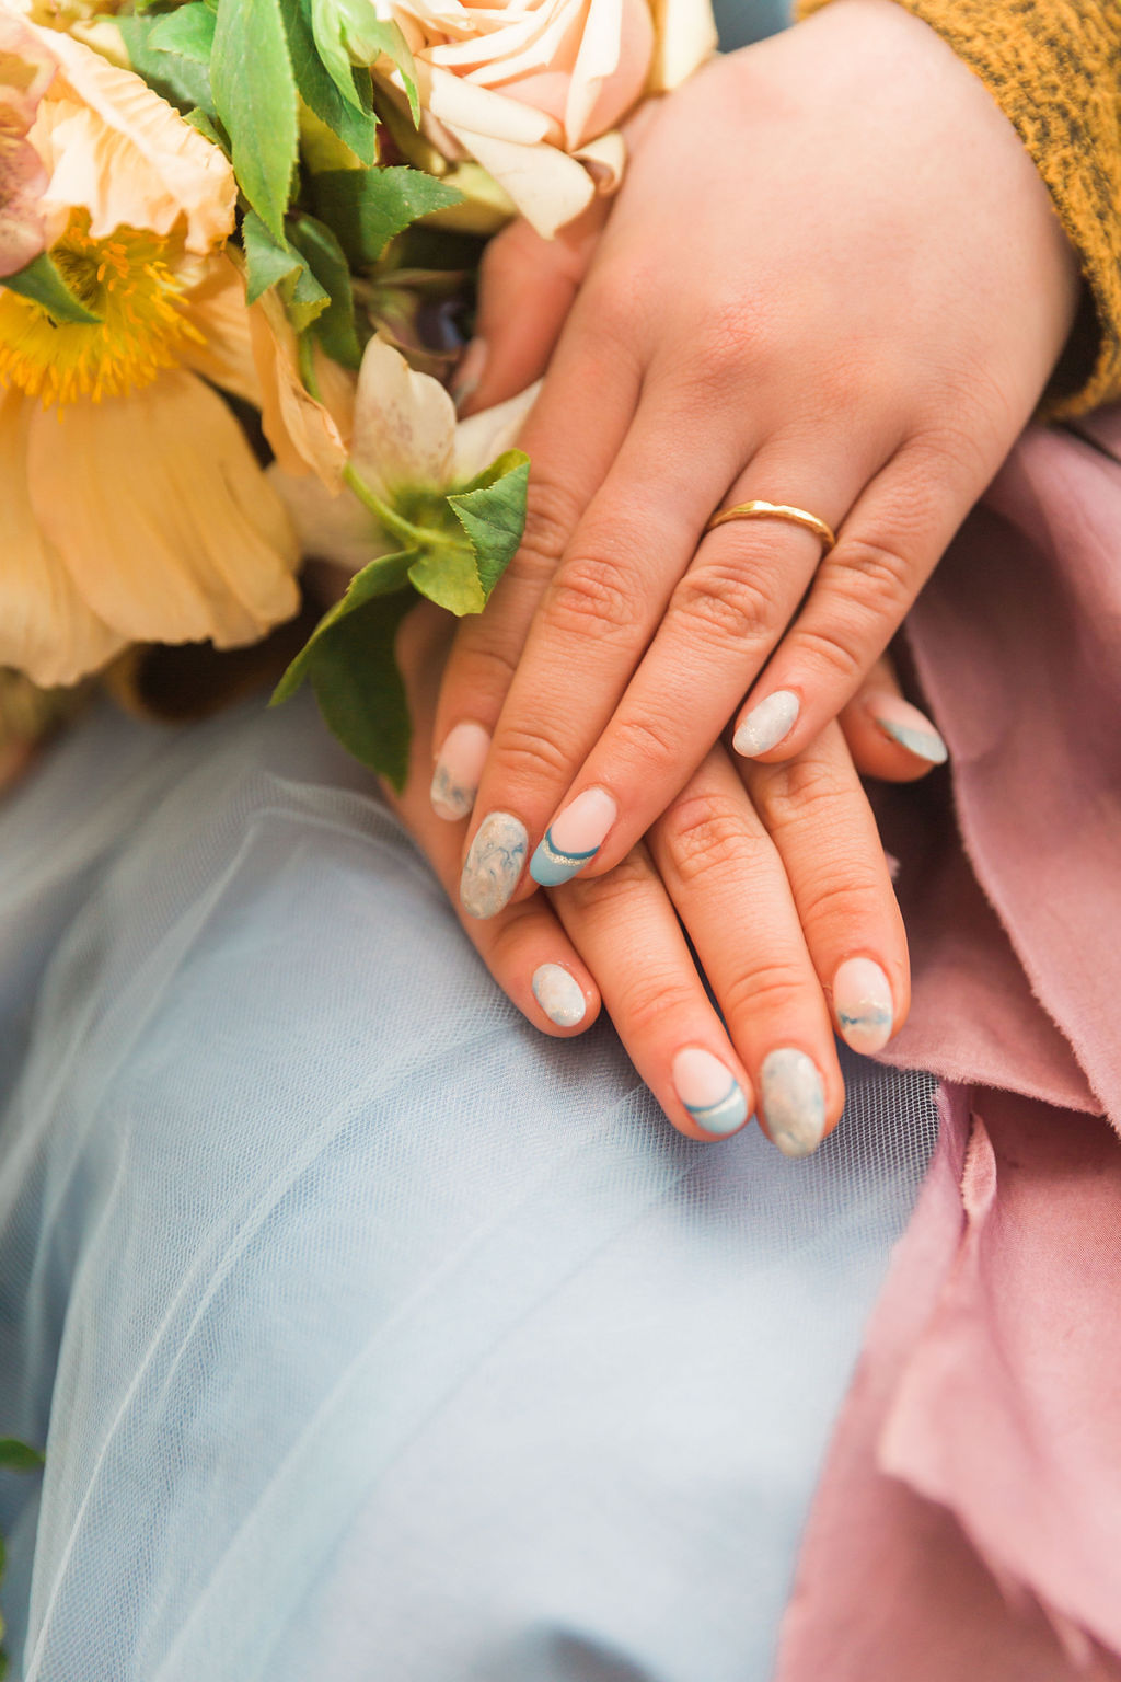
{"label": "pair of stacked hands with blue and white painted nails", "polygon": [[[945,748],[882,656],[1077,301],[1015,130],[894,0],[714,61],[642,113],[610,215],[487,252],[461,407],[548,365],[529,516],[486,614],[405,622],[398,809],[529,1021],[605,1004],[692,1139],[756,1113],[808,1154],[844,1107],[834,1029],[872,1051],[906,1018],[859,772]],[[706,533],[750,500],[835,548]]]}

